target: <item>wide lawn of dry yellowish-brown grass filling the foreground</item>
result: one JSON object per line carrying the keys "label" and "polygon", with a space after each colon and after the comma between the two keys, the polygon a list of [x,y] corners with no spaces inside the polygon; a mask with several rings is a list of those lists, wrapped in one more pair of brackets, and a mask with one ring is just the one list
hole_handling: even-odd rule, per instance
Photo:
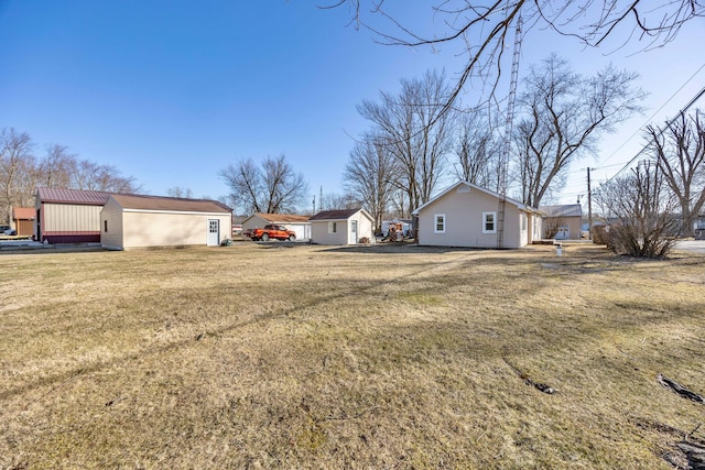
{"label": "wide lawn of dry yellowish-brown grass filling the foreground", "polygon": [[0,469],[673,468],[705,256],[563,254],[1,254]]}

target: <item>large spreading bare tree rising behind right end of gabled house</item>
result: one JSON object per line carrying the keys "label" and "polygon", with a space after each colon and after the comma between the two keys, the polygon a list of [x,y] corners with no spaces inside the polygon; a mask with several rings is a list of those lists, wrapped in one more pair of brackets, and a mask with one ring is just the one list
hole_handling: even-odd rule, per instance
{"label": "large spreading bare tree rising behind right end of gabled house", "polygon": [[611,65],[583,77],[555,54],[531,67],[516,128],[524,204],[538,207],[561,172],[592,151],[600,133],[641,112],[644,92],[632,87],[637,78]]}

